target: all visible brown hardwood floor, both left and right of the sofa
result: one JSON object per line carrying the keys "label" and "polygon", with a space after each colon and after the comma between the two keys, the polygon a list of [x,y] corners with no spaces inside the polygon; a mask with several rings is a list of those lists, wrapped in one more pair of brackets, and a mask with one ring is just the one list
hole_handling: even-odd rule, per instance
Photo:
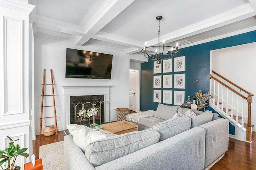
{"label": "all visible brown hardwood floor, both left and right of the sofa", "polygon": [[[33,153],[39,157],[39,147],[64,140],[64,131],[52,136],[36,136],[33,141]],[[229,138],[228,151],[210,170],[256,170],[256,132],[252,132],[252,143]],[[216,148],[217,149],[217,148]]]}

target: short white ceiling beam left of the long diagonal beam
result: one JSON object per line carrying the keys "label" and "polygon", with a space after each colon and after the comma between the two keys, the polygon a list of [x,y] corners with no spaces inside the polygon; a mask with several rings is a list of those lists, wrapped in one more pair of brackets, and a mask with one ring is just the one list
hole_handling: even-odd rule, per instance
{"label": "short white ceiling beam left of the long diagonal beam", "polygon": [[46,16],[37,15],[36,26],[73,35],[84,35],[84,27]]}

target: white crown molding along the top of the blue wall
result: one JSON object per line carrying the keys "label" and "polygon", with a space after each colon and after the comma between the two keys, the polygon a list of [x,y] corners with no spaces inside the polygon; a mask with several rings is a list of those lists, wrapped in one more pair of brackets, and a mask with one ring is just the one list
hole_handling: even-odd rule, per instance
{"label": "white crown molding along the top of the blue wall", "polygon": [[[239,35],[239,34],[242,34],[242,33],[247,33],[247,32],[250,32],[250,31],[255,31],[256,30],[256,26],[254,27],[249,27],[249,28],[246,28],[246,29],[241,29],[239,31],[234,31],[232,33],[226,33],[226,34],[223,34],[223,35],[219,35],[219,36],[216,36],[216,37],[212,37],[212,38],[208,38],[208,39],[204,39],[202,41],[196,41],[194,43],[189,43],[189,44],[186,44],[186,45],[181,45],[179,47],[179,49],[182,49],[182,48],[186,48],[186,47],[191,47],[191,46],[194,46],[194,45],[198,45],[198,44],[202,44],[202,43],[208,43],[210,41],[215,41],[215,40],[218,40],[218,39],[223,39],[223,38],[227,38],[227,37],[232,37],[234,35]],[[168,51],[171,51],[171,49],[168,49]]]}

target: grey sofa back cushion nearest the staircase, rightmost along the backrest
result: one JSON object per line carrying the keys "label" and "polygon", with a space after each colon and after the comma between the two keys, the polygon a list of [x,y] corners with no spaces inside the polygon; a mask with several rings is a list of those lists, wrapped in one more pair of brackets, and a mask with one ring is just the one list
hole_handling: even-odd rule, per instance
{"label": "grey sofa back cushion nearest the staircase, rightmost along the backrest", "polygon": [[208,123],[212,121],[212,111],[206,110],[204,113],[192,116],[191,118],[191,128]]}

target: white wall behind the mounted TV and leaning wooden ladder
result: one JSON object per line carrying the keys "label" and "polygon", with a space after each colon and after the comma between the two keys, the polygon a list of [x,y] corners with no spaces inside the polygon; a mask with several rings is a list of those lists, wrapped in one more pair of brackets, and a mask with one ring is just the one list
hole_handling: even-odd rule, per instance
{"label": "white wall behind the mounted TV and leaning wooden ladder", "polygon": [[[94,51],[113,55],[111,80],[74,79],[65,78],[66,48]],[[50,83],[50,69],[53,70],[55,92],[56,92],[56,114],[60,117],[58,130],[64,128],[63,92],[61,86],[111,86],[110,87],[110,120],[116,120],[115,108],[129,107],[129,68],[130,58],[142,58],[141,55],[127,55],[121,51],[96,47],[95,45],[74,46],[70,41],[57,41],[35,37],[35,129],[39,134],[40,127],[40,105],[42,94],[43,70],[46,69],[46,83]],[[143,58],[142,58],[143,59]],[[45,94],[51,93],[51,87],[45,89]],[[45,105],[52,105],[52,97],[44,98]],[[53,107],[45,109],[44,117],[53,116]],[[46,125],[53,125],[54,118],[49,118]],[[42,128],[44,129],[44,128]]]}

